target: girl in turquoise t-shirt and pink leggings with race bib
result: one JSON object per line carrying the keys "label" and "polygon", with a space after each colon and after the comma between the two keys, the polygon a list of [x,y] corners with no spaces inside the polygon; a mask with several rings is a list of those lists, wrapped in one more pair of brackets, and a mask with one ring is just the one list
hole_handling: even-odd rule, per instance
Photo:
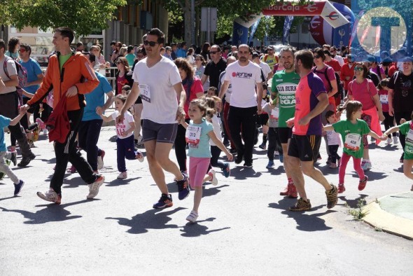
{"label": "girl in turquoise t-shirt and pink leggings with race bib", "polygon": [[205,119],[207,112],[214,116],[214,110],[208,109],[204,99],[193,99],[188,109],[190,125],[185,120],[181,120],[181,125],[186,128],[186,141],[189,148],[189,182],[195,190],[193,210],[186,218],[192,223],[198,218],[198,208],[202,199],[202,184],[204,184],[204,176],[207,174],[211,162],[209,139],[226,154],[228,160],[231,161],[233,158],[221,140],[216,137],[214,127]]}

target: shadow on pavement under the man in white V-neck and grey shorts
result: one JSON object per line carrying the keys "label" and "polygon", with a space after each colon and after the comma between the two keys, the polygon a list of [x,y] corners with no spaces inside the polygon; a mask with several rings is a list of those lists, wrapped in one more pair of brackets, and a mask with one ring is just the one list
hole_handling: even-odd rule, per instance
{"label": "shadow on pavement under the man in white V-neck and grey shorts", "polygon": [[130,227],[127,233],[130,234],[144,234],[148,233],[149,229],[167,229],[167,228],[179,228],[176,224],[167,224],[172,219],[169,217],[175,212],[181,211],[183,207],[176,209],[169,209],[169,211],[161,212],[162,209],[150,209],[143,214],[137,214],[132,216],[132,219],[127,218],[112,218],[106,219],[117,220],[121,226]]}

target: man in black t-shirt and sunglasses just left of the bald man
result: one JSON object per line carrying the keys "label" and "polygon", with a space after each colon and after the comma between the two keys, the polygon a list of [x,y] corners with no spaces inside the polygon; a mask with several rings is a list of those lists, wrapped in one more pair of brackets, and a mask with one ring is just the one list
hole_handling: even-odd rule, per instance
{"label": "man in black t-shirt and sunglasses just left of the bald man", "polygon": [[201,78],[202,85],[204,85],[209,77],[209,86],[218,87],[219,75],[227,68],[227,62],[221,57],[221,48],[218,45],[211,46],[209,55],[211,55],[211,61],[208,62],[205,67],[204,74]]}

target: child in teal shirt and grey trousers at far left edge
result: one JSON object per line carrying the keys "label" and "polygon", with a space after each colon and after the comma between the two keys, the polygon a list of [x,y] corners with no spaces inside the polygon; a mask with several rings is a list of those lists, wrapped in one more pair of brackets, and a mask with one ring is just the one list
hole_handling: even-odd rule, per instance
{"label": "child in teal shirt and grey trousers at far left edge", "polygon": [[6,149],[3,128],[8,127],[9,125],[17,125],[20,119],[23,118],[23,116],[26,116],[26,112],[20,112],[20,114],[13,120],[10,120],[10,118],[0,115],[0,172],[6,174],[10,178],[10,180],[13,181],[14,195],[18,195],[20,193],[20,191],[22,190],[22,186],[25,185],[25,182],[23,182],[21,179],[18,179],[18,177],[16,177],[16,175],[12,172],[12,170],[10,170],[10,168],[6,164],[6,160],[10,160],[11,162],[13,162],[13,165],[16,165],[17,158],[15,152],[10,153]]}

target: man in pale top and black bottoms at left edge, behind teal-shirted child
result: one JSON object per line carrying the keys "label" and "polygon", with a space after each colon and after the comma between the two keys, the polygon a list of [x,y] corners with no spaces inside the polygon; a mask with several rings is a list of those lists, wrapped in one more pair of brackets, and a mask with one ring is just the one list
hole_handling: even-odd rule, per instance
{"label": "man in pale top and black bottoms at left edge, behind teal-shirted child", "polygon": [[[0,39],[0,78],[3,80],[4,85],[6,85],[4,88],[0,88],[0,115],[8,118],[15,118],[15,116],[18,116],[19,113],[18,95],[16,90],[16,86],[19,84],[18,71],[14,60],[4,55],[5,51],[6,43]],[[5,65],[8,74],[4,71]],[[29,165],[31,160],[36,158],[30,150],[26,134],[23,132],[20,123],[17,125],[10,125],[8,129],[17,139],[18,145],[20,146],[20,151],[22,152],[22,161],[18,164],[18,166],[26,167]]]}

